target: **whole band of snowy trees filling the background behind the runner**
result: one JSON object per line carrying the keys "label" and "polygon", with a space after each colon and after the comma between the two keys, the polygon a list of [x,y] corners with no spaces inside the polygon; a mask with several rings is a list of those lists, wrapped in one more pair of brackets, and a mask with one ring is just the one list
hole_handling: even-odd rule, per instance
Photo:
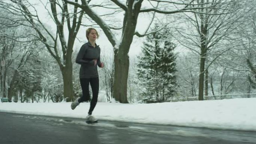
{"label": "whole band of snowy trees filling the background behind the runner", "polygon": [[[208,95],[252,93],[255,1],[145,0],[152,9],[142,2],[49,0],[45,7],[55,24],[50,27],[29,1],[1,1],[1,97],[60,102],[80,96],[73,47],[80,27],[94,25],[113,46],[113,53],[101,53],[106,65],[99,71],[100,85],[106,101],[161,102],[186,96],[203,100]],[[96,15],[95,8],[105,14]],[[152,19],[140,34],[135,28],[142,13]],[[134,36],[145,40],[141,54],[129,58]]]}

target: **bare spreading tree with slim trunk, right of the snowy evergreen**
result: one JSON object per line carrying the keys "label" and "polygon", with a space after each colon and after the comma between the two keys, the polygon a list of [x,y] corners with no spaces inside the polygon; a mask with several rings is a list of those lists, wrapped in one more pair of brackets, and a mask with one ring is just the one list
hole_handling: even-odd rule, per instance
{"label": "bare spreading tree with slim trunk, right of the snowy evergreen", "polygon": [[[208,68],[220,55],[239,45],[234,35],[241,31],[237,27],[242,23],[243,13],[237,5],[238,1],[197,0],[193,3],[201,4],[194,7],[211,8],[196,9],[194,15],[186,14],[189,28],[179,30],[180,36],[184,38],[179,41],[199,55],[198,99],[203,100],[204,85],[207,86],[205,94],[208,95]],[[207,80],[204,80],[204,75]]]}

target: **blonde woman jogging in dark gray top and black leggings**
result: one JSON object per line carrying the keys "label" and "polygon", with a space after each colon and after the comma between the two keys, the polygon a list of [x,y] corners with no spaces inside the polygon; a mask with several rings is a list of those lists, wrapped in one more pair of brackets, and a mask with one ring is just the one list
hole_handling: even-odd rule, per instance
{"label": "blonde woman jogging in dark gray top and black leggings", "polygon": [[100,47],[96,44],[98,38],[98,32],[94,28],[88,28],[86,30],[87,43],[83,44],[76,57],[76,63],[80,64],[79,78],[82,87],[82,97],[76,98],[71,104],[71,109],[74,110],[80,102],[88,101],[90,99],[89,83],[92,88],[92,100],[88,111],[86,120],[89,122],[97,122],[92,111],[94,110],[98,101],[99,92],[99,77],[97,66],[104,67],[103,62],[100,61]]}

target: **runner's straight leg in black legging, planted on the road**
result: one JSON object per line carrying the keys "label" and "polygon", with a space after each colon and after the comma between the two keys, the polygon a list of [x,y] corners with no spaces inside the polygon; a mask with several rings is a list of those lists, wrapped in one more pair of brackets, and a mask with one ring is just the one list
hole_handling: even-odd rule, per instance
{"label": "runner's straight leg in black legging, planted on the road", "polygon": [[94,77],[90,79],[90,84],[92,88],[92,101],[90,105],[90,109],[88,114],[91,115],[92,111],[94,110],[97,101],[98,101],[98,94],[99,94],[99,77]]}

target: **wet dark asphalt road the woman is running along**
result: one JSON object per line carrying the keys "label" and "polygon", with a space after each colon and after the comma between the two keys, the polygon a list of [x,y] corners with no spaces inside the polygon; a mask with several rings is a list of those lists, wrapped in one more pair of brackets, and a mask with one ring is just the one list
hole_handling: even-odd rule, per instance
{"label": "wet dark asphalt road the woman is running along", "polygon": [[0,112],[0,144],[256,144],[256,132]]}

